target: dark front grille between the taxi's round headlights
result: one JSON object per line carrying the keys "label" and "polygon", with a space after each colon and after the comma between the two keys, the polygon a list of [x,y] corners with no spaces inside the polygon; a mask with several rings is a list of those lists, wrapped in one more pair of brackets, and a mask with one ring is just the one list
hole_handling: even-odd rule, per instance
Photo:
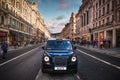
{"label": "dark front grille between the taxi's round headlights", "polygon": [[55,57],[54,64],[55,64],[55,66],[66,66],[67,58],[66,57]]}

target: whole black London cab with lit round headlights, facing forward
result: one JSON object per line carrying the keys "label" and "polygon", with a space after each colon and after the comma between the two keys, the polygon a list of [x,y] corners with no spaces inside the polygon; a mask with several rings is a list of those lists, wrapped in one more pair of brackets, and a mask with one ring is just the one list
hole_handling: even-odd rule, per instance
{"label": "whole black London cab with lit round headlights, facing forward", "polygon": [[76,47],[67,39],[49,39],[44,49],[42,72],[77,72]]}

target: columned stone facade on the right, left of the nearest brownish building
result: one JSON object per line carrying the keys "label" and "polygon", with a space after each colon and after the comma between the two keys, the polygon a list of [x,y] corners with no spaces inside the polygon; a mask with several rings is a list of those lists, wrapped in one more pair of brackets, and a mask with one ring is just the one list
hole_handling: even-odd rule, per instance
{"label": "columned stone facade on the right, left of the nearest brownish building", "polygon": [[83,0],[83,4],[80,6],[79,11],[76,14],[77,40],[91,40],[93,22],[92,12],[92,1]]}

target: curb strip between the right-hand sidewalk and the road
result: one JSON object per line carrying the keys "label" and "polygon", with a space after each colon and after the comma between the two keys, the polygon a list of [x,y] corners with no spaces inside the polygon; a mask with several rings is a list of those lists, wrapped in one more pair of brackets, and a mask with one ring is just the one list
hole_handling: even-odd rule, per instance
{"label": "curb strip between the right-hand sidewalk and the road", "polygon": [[77,46],[78,46],[78,47],[81,47],[81,48],[84,48],[84,49],[91,50],[91,51],[99,52],[99,53],[101,53],[101,54],[106,54],[106,55],[109,55],[109,56],[113,56],[113,57],[116,57],[116,58],[120,58],[120,54],[113,54],[113,53],[110,53],[110,52],[107,52],[107,51],[98,51],[98,50],[95,50],[95,49],[90,49],[90,48],[86,48],[86,47],[79,46],[79,45],[77,45]]}

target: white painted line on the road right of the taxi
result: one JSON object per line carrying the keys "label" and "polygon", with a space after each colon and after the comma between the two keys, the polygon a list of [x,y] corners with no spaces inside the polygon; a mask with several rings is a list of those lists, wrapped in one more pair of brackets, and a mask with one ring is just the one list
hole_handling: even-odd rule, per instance
{"label": "white painted line on the road right of the taxi", "polygon": [[97,57],[95,57],[95,56],[93,56],[93,55],[90,55],[90,54],[88,54],[88,53],[86,53],[86,52],[84,52],[84,51],[81,51],[81,50],[79,50],[79,49],[77,49],[79,52],[81,52],[81,53],[83,53],[83,54],[85,54],[85,55],[87,55],[87,56],[90,56],[90,57],[92,57],[92,58],[94,58],[94,59],[96,59],[96,60],[98,60],[98,61],[101,61],[101,62],[103,62],[103,63],[105,63],[105,64],[107,64],[107,65],[109,65],[109,66],[112,66],[112,67],[115,67],[115,68],[117,68],[117,69],[120,69],[120,67],[119,66],[116,66],[116,65],[114,65],[114,64],[111,64],[111,63],[109,63],[109,62],[107,62],[107,61],[104,61],[104,60],[102,60],[102,59],[100,59],[100,58],[97,58]]}

